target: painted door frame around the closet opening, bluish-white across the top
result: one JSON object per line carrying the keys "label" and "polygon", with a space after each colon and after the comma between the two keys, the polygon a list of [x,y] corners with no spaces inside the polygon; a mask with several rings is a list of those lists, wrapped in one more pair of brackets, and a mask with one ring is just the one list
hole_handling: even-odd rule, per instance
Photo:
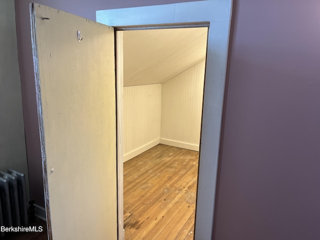
{"label": "painted door frame around the closet opening, bluish-white across the top", "polygon": [[208,41],[199,146],[194,239],[211,239],[232,0],[204,0],[96,11],[96,21],[116,36],[118,239],[123,231],[122,32],[127,28],[168,28],[207,24]]}

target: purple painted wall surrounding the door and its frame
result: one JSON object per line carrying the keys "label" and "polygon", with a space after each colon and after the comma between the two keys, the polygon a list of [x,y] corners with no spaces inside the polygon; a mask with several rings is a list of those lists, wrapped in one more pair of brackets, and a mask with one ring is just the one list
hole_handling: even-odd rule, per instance
{"label": "purple painted wall surrounding the door and its frame", "polygon": [[[38,2],[90,19],[149,5]],[[15,5],[30,194],[43,205],[28,2]],[[318,0],[234,0],[214,240],[320,239],[319,12]]]}

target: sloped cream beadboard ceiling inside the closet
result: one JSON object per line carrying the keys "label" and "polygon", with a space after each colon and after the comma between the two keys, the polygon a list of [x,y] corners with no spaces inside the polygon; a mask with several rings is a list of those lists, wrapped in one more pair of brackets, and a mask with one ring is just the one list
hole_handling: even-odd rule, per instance
{"label": "sloped cream beadboard ceiling inside the closet", "polygon": [[123,85],[163,83],[205,58],[207,27],[123,31]]}

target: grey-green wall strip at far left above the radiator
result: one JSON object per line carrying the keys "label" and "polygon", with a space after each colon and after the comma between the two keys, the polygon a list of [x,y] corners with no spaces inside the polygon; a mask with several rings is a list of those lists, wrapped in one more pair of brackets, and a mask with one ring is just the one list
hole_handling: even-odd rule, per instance
{"label": "grey-green wall strip at far left above the radiator", "polygon": [[29,199],[14,1],[0,0],[0,170],[9,167],[25,174]]}

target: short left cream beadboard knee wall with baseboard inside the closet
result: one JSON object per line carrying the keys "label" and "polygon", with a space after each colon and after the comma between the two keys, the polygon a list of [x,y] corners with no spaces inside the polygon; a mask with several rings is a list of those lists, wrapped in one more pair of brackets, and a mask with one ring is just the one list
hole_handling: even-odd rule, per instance
{"label": "short left cream beadboard knee wall with baseboard inside the closet", "polygon": [[123,161],[159,143],[161,84],[123,87]]}

